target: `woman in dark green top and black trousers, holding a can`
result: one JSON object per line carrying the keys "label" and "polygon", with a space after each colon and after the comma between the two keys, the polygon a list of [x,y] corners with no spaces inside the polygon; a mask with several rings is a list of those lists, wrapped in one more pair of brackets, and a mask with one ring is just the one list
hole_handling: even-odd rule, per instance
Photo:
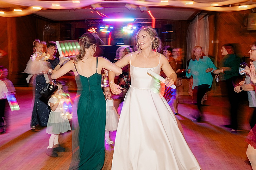
{"label": "woman in dark green top and black trousers, holding a can", "polygon": [[[240,58],[236,56],[232,44],[224,44],[221,48],[221,54],[224,55],[220,62],[219,69],[215,70],[216,76],[220,77],[221,81],[225,82],[228,99],[231,105],[230,118],[231,124],[226,127],[231,128],[231,133],[236,133],[237,130],[237,109],[238,109],[238,94],[234,92],[235,80],[238,78]],[[216,78],[215,76],[215,78]]]}

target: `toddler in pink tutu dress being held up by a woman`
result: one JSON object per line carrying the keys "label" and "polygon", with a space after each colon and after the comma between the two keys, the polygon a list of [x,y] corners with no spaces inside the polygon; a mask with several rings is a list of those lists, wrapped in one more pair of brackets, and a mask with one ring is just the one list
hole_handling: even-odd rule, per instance
{"label": "toddler in pink tutu dress being held up by a woman", "polygon": [[[43,52],[44,45],[40,43],[39,40],[34,40],[33,45],[34,54],[28,60],[27,67],[24,71],[25,73],[29,74],[26,78],[27,83],[34,74],[40,74],[42,73],[42,71],[52,69],[51,63],[45,60],[48,57],[46,56],[46,53]],[[50,81],[48,74],[44,74],[44,77],[46,79],[46,82],[48,83]]]}

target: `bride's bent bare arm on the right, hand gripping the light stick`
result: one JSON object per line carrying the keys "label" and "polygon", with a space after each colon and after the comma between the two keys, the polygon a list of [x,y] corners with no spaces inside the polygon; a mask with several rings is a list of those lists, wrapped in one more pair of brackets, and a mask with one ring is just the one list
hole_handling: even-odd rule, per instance
{"label": "bride's bent bare arm on the right, hand gripping the light stick", "polygon": [[162,62],[161,69],[164,71],[165,75],[167,76],[165,78],[165,85],[167,87],[170,87],[177,80],[177,74],[175,73],[175,71],[173,71],[168,60],[165,57],[163,57],[162,55],[160,57],[161,57],[161,62]]}

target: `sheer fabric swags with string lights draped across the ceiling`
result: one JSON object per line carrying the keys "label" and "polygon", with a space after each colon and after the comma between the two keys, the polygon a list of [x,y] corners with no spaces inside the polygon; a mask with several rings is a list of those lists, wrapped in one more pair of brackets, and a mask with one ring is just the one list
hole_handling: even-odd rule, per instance
{"label": "sheer fabric swags with string lights draped across the ceiling", "polygon": [[[194,8],[200,10],[208,10],[208,11],[216,11],[216,12],[232,12],[232,11],[240,11],[246,9],[256,8],[256,4],[248,4],[244,6],[231,6],[231,7],[218,7],[223,5],[230,4],[239,4],[247,2],[248,0],[227,0],[219,3],[198,3],[195,1],[188,0],[169,0],[168,2],[160,2],[160,0],[147,0],[147,1],[138,1],[138,0],[116,0],[116,2],[130,3],[139,6],[145,7],[160,7],[160,6],[170,6],[170,7],[180,7],[180,8]],[[29,14],[36,13],[41,9],[77,9],[86,6],[90,6],[95,3],[108,3],[104,2],[104,0],[77,0],[73,2],[73,0],[67,1],[43,1],[43,0],[0,0],[0,3],[8,3],[13,5],[20,5],[22,8],[28,7],[26,9],[22,9],[22,11],[0,11],[0,16],[2,17],[19,17],[25,16]],[[113,1],[115,2],[115,1]],[[191,4],[188,4],[191,3]],[[211,6],[212,5],[212,6]],[[33,7],[37,7],[34,9]],[[40,8],[41,9],[40,9]]]}

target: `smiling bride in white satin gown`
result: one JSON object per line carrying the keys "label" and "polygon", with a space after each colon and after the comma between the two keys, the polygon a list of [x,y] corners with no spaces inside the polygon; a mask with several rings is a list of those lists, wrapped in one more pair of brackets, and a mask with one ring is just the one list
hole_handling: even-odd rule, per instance
{"label": "smiling bride in white satin gown", "polygon": [[[197,170],[200,166],[186,143],[182,127],[163,96],[157,81],[147,69],[166,75],[165,85],[177,79],[165,56],[157,50],[161,41],[152,27],[140,29],[137,52],[129,53],[115,64],[130,64],[131,86],[125,96],[112,161],[112,170]],[[121,93],[109,71],[112,93]]]}

